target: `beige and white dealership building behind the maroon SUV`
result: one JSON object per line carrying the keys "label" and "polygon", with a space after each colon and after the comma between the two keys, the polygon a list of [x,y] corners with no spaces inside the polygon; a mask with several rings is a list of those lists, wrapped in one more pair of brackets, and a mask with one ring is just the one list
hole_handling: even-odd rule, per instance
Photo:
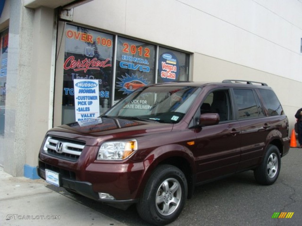
{"label": "beige and white dealership building behind the maroon SUV", "polygon": [[[148,84],[267,83],[290,131],[302,107],[302,0],[0,0],[0,13],[0,166],[13,176],[37,178],[48,129]],[[98,94],[75,98],[76,84]]]}

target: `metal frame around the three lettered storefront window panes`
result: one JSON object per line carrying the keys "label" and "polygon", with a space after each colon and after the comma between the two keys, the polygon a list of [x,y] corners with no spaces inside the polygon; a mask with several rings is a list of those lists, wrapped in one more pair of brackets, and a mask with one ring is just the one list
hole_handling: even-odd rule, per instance
{"label": "metal frame around the three lettered storefront window panes", "polygon": [[[100,102],[103,101],[103,99],[108,99],[109,101],[106,101],[106,106],[108,105],[109,108],[111,108],[115,103],[117,103],[120,99],[116,99],[115,97],[115,91],[116,91],[116,87],[117,87],[117,79],[116,79],[116,74],[117,74],[117,41],[119,38],[122,39],[129,39],[129,40],[133,40],[134,42],[142,42],[143,44],[147,44],[147,45],[152,45],[155,47],[155,54],[153,56],[153,61],[154,61],[154,73],[152,74],[152,83],[156,84],[158,83],[157,81],[157,75],[158,75],[158,62],[159,62],[159,58],[158,58],[158,54],[159,54],[159,49],[164,48],[167,49],[171,52],[179,52],[181,54],[185,54],[185,58],[188,59],[188,69],[186,71],[186,80],[188,81],[190,76],[191,76],[191,52],[185,51],[185,50],[181,50],[181,49],[177,49],[174,48],[172,46],[164,46],[161,45],[159,43],[153,43],[150,40],[143,40],[143,39],[139,39],[137,37],[133,37],[133,36],[125,36],[125,35],[120,35],[117,34],[113,31],[108,31],[108,30],[103,30],[97,27],[92,27],[89,26],[87,24],[78,24],[78,23],[74,23],[74,22],[66,22],[63,20],[59,20],[58,22],[58,31],[60,32],[60,35],[58,36],[58,45],[56,46],[56,58],[63,58],[65,57],[65,49],[66,49],[66,31],[68,30],[68,26],[70,25],[70,27],[79,27],[82,29],[87,29],[87,30],[92,30],[96,33],[104,33],[107,35],[111,35],[112,38],[112,48],[113,48],[113,58],[112,58],[112,74],[111,74],[111,89],[109,91],[109,97],[100,97]],[[61,34],[62,32],[62,34]],[[84,32],[85,33],[85,32]],[[101,37],[101,35],[100,35]],[[88,39],[87,39],[88,40]],[[90,39],[89,39],[90,40]],[[88,42],[88,41],[87,41]],[[63,98],[64,98],[64,65],[65,59],[64,61],[60,62],[58,64],[56,64],[55,66],[55,88],[54,88],[54,102],[56,104],[54,104],[53,106],[53,111],[54,111],[54,117],[53,117],[53,125],[61,125],[61,124],[66,124],[69,123],[68,120],[66,120],[66,117],[64,117],[64,113],[63,113]],[[151,84],[151,83],[150,83]],[[70,88],[72,89],[72,88]],[[69,91],[68,91],[69,92]],[[73,95],[72,95],[73,96]],[[100,104],[101,106],[101,104]],[[74,106],[72,106],[74,108]],[[74,111],[74,109],[71,108],[69,110]],[[100,111],[100,115],[102,115],[102,113]],[[68,113],[68,114],[74,114],[74,113]],[[67,113],[66,113],[67,115]],[[70,118],[70,117],[69,117]]]}

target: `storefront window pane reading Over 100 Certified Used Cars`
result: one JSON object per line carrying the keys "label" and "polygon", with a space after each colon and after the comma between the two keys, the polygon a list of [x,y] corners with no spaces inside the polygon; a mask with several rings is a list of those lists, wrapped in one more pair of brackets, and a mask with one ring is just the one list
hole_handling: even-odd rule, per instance
{"label": "storefront window pane reading Over 100 Certified Used Cars", "polygon": [[[114,39],[113,35],[71,24],[66,24],[64,34],[62,123],[69,123],[76,121],[75,79],[94,80],[92,83],[98,84],[100,115],[111,106]],[[92,83],[84,82],[81,84]],[[79,92],[81,91],[85,90],[79,90]],[[87,93],[87,95],[81,97],[81,100],[76,99],[76,105],[82,106],[78,108],[78,112],[82,111],[83,119],[87,118],[87,115],[99,116],[85,112],[85,109],[90,108],[88,106],[89,98],[95,99],[95,94],[91,96]],[[68,121],[66,118],[68,118]]]}

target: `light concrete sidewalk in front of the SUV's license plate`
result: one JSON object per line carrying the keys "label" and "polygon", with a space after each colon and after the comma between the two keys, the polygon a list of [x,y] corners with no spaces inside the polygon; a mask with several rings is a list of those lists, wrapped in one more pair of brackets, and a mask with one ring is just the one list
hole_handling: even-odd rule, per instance
{"label": "light concrete sidewalk in front of the SUV's license plate", "polygon": [[0,167],[0,225],[126,226],[47,185],[42,179],[13,177]]}

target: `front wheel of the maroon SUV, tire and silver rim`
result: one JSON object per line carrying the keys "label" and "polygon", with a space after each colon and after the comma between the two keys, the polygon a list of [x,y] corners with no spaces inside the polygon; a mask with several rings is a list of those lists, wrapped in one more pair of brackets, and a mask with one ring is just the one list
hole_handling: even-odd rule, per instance
{"label": "front wheel of the maroon SUV, tire and silver rim", "polygon": [[187,195],[184,173],[175,166],[160,165],[146,184],[137,203],[137,212],[151,224],[169,224],[182,212]]}

